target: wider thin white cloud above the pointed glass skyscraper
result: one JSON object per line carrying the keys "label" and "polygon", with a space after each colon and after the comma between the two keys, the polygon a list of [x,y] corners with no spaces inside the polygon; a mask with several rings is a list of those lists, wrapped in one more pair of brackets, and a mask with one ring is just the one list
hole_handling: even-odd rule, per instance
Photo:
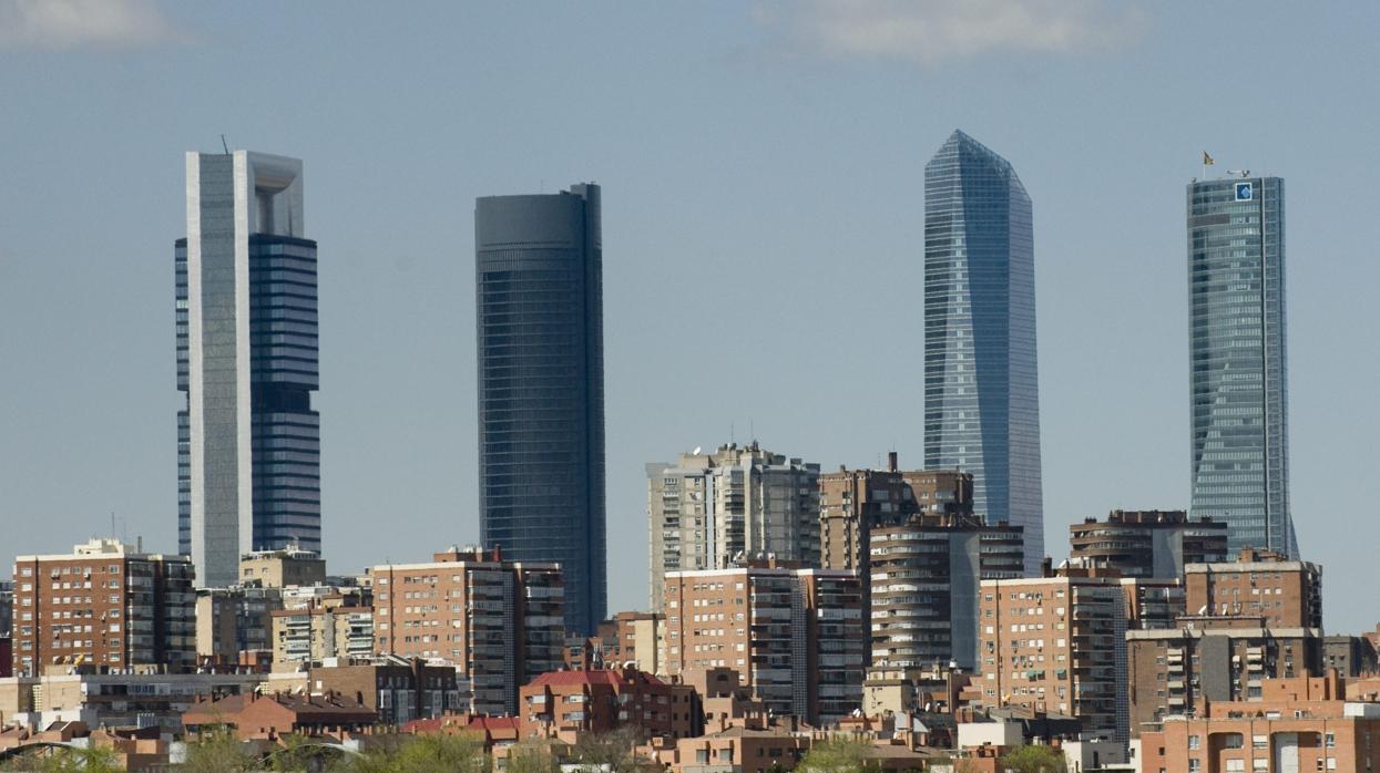
{"label": "wider thin white cloud above the pointed glass skyscraper", "polygon": [[793,0],[756,18],[810,51],[919,62],[1111,48],[1144,23],[1137,7],[1101,0]]}

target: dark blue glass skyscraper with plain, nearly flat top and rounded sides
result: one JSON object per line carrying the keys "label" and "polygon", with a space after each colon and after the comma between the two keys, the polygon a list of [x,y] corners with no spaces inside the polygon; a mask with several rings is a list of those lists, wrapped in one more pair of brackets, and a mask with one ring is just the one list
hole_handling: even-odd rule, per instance
{"label": "dark blue glass skyscraper with plain, nearly flat top and rounded sides", "polygon": [[515,561],[558,561],[566,627],[607,602],[599,186],[475,203],[479,526]]}

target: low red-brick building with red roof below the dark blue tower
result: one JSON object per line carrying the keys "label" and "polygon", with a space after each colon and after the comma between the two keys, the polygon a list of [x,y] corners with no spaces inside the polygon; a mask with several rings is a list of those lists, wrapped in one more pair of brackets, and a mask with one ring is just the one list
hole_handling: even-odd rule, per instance
{"label": "low red-brick building with red roof below the dark blue tower", "polygon": [[574,740],[582,733],[638,728],[647,737],[686,739],[704,730],[694,688],[635,668],[552,671],[519,696],[522,737]]}

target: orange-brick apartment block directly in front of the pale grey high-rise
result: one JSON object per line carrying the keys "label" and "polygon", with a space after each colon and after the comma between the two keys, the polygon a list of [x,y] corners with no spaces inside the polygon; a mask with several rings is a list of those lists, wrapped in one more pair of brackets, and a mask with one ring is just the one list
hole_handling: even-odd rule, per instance
{"label": "orange-brick apartment block directly in front of the pale grey high-rise", "polygon": [[777,715],[834,722],[862,700],[867,632],[853,572],[751,562],[667,575],[665,672],[723,666]]}

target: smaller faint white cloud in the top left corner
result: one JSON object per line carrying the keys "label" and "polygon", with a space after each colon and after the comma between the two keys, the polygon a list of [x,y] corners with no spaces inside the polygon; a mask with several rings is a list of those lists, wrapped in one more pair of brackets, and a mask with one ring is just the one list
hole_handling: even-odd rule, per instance
{"label": "smaller faint white cloud in the top left corner", "polygon": [[0,48],[134,48],[185,40],[152,0],[0,0]]}

